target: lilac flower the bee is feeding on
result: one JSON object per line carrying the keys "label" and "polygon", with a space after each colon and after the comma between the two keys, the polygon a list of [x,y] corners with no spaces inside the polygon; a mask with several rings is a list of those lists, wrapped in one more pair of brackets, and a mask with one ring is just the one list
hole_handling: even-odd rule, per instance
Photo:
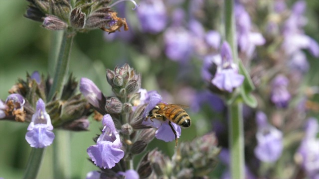
{"label": "lilac flower the bee is feeding on", "polygon": [[[145,115],[146,116],[158,103],[161,102],[161,99],[162,98],[161,98],[160,94],[158,94],[158,93],[154,93],[150,97],[150,102],[145,107]],[[158,130],[155,133],[155,137],[157,139],[163,140],[165,142],[170,142],[170,141],[173,141],[175,139],[175,135],[174,135],[173,131],[171,130],[168,122],[169,122],[168,120],[165,120],[165,121],[158,120],[158,119],[151,120],[150,118],[148,118],[148,120],[143,121],[142,124],[144,124],[146,126],[152,126],[152,127],[157,128]],[[177,138],[179,138],[180,133],[181,133],[180,127],[175,123],[171,123],[171,125],[173,126],[174,130],[176,131]]]}

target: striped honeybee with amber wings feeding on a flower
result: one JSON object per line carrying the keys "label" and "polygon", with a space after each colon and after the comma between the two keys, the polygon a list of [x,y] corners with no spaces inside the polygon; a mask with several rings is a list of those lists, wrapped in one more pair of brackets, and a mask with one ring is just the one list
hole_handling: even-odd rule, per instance
{"label": "striped honeybee with amber wings feeding on a flower", "polygon": [[168,120],[168,125],[175,135],[175,148],[177,146],[177,134],[173,126],[171,125],[171,122],[182,127],[189,127],[191,123],[189,115],[185,112],[185,110],[183,110],[183,108],[188,108],[188,106],[180,104],[165,104],[163,102],[160,102],[150,111],[149,115],[146,118],[146,120],[148,119],[148,117],[150,117],[151,120]]}

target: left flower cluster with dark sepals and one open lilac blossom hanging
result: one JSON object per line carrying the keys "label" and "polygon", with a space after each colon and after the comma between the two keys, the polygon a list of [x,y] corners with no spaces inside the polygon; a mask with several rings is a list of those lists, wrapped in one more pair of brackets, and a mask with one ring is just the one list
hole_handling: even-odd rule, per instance
{"label": "left flower cluster with dark sepals and one open lilac blossom hanging", "polygon": [[34,148],[52,144],[53,128],[72,131],[88,130],[88,116],[91,111],[87,101],[76,94],[77,82],[70,76],[60,99],[48,101],[51,80],[34,72],[27,74],[27,80],[19,79],[10,90],[8,97],[1,100],[0,119],[30,123],[25,135],[26,141]]}

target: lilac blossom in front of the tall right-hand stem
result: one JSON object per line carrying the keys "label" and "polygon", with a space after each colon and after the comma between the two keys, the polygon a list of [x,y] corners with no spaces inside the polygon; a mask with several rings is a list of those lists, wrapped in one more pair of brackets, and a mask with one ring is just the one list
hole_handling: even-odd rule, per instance
{"label": "lilac blossom in front of the tall right-hand stem", "polygon": [[222,44],[220,54],[222,65],[218,67],[211,83],[218,89],[232,92],[234,88],[243,83],[244,76],[238,74],[237,66],[233,63],[231,48],[227,42]]}

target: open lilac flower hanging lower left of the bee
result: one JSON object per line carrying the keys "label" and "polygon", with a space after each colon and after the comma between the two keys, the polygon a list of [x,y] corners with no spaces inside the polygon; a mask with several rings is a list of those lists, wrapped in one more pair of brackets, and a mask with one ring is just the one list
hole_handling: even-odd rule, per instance
{"label": "open lilac flower hanging lower left of the bee", "polygon": [[87,153],[96,166],[111,169],[124,157],[124,151],[121,149],[120,134],[110,114],[103,116],[102,123],[104,125],[102,134],[96,141],[96,145],[87,149]]}

